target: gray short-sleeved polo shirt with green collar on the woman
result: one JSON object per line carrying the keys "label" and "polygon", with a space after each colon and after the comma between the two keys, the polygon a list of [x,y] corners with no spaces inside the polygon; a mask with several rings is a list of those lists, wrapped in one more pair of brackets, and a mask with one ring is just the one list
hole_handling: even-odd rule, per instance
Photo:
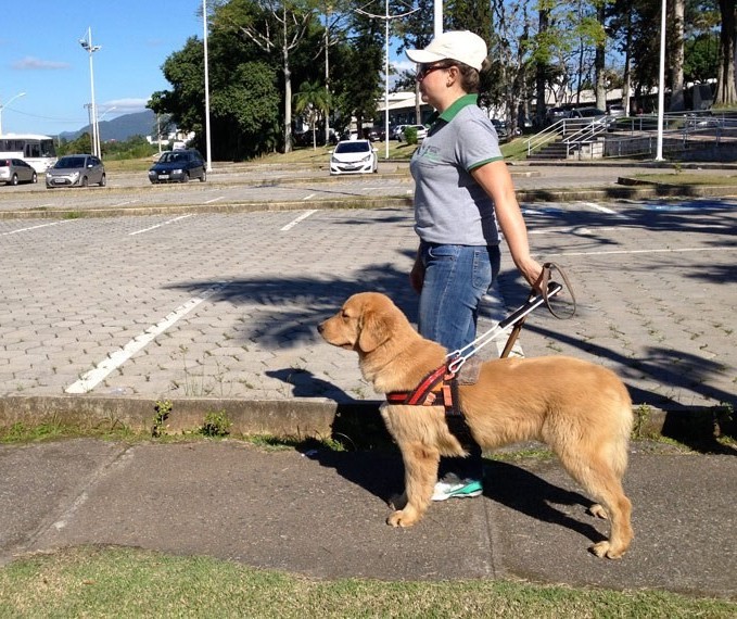
{"label": "gray short-sleeved polo shirt with green collar on the woman", "polygon": [[495,245],[494,201],[471,170],[503,157],[494,125],[466,94],[443,112],[415,151],[415,230],[429,243]]}

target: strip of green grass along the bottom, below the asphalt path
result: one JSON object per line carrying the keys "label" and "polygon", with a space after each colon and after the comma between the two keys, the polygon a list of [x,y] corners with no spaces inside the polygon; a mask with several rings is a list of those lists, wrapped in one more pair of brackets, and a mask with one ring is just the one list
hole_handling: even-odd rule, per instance
{"label": "strip of green grass along the bottom, below the asphalt path", "polygon": [[737,604],[520,580],[315,580],[206,557],[77,547],[0,569],[0,617],[735,617]]}

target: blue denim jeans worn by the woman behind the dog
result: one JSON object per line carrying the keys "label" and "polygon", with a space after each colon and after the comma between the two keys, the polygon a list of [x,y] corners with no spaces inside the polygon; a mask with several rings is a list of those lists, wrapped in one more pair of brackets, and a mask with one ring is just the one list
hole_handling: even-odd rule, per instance
{"label": "blue denim jeans worn by the woman behind the dog", "polygon": [[[499,274],[499,248],[422,242],[420,256],[424,281],[418,328],[423,338],[441,343],[452,353],[476,338],[479,303]],[[441,480],[483,478],[481,447],[473,439],[465,447],[467,458],[441,459]]]}

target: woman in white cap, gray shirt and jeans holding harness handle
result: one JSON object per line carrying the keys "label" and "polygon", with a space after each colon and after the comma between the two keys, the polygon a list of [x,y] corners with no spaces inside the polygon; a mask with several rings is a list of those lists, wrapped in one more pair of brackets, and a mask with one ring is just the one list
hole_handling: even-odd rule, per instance
{"label": "woman in white cap, gray shirt and jeans holding harness handle", "polygon": [[[497,225],[531,286],[542,267],[530,255],[494,126],[476,105],[486,43],[468,30],[448,31],[406,53],[418,64],[422,100],[437,111],[409,166],[420,237],[410,281],[420,293],[420,333],[452,352],[475,339],[479,303],[499,271]],[[481,449],[473,442],[467,449],[468,458],[441,462],[434,501],[481,494]]]}

